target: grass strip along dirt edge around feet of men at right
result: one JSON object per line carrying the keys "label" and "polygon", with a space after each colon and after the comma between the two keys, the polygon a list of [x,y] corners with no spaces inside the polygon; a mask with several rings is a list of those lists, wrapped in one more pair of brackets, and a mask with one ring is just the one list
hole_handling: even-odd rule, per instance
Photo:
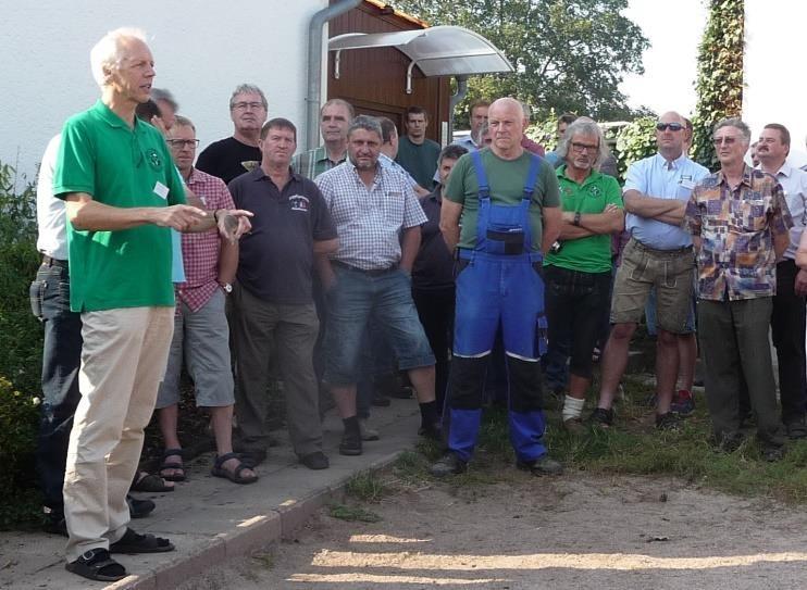
{"label": "grass strip along dirt edge around feet of men at right", "polygon": [[[596,403],[598,386],[592,388],[586,412]],[[546,444],[550,455],[567,469],[604,475],[665,475],[694,485],[736,495],[773,497],[787,503],[807,503],[807,441],[789,441],[782,461],[760,459],[754,430],[735,452],[716,451],[710,444],[711,423],[703,393],[696,396],[696,411],[679,431],[655,428],[654,411],[646,405],[654,385],[642,376],[625,376],[624,398],[616,405],[617,417],[609,429],[588,428],[571,435],[560,426],[560,409],[546,412]],[[585,415],[584,415],[585,417]],[[435,481],[429,465],[439,456],[439,448],[419,443],[419,457],[406,453],[394,474],[408,480]],[[494,406],[485,411],[479,447],[465,474],[446,480],[458,489],[517,478],[509,439],[507,411]]]}

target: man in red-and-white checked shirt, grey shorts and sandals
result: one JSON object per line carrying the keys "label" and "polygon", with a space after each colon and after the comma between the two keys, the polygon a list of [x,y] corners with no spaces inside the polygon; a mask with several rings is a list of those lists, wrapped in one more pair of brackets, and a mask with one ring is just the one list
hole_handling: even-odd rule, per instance
{"label": "man in red-and-white checked shirt, grey shorts and sandals", "polygon": [[[186,117],[177,116],[166,139],[186,185],[209,211],[235,209],[226,185],[194,167],[196,128]],[[179,401],[179,374],[183,359],[194,379],[197,404],[209,407],[218,457],[213,475],[236,484],[257,480],[233,453],[233,373],[229,364],[229,330],[224,315],[226,293],[238,266],[238,244],[222,240],[214,230],[184,234],[182,250],[186,281],[177,285],[174,338],[165,377],[157,398],[160,429],[165,452],[160,475],[183,481],[182,445],[176,432]]]}

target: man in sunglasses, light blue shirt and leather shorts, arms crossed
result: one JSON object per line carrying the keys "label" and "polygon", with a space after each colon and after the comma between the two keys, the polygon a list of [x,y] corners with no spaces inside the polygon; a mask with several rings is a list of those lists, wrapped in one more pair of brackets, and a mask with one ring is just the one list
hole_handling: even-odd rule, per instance
{"label": "man in sunglasses, light blue shirt and leather shorts, arms crossed", "polygon": [[709,174],[684,153],[686,125],[674,112],[656,124],[658,153],[634,162],[622,189],[631,239],[617,271],[611,335],[603,354],[599,402],[592,422],[610,426],[613,398],[628,365],[628,347],[655,287],[658,309],[656,427],[676,426],[671,403],[679,373],[679,339],[694,338],[692,238],[680,228],[686,201]]}

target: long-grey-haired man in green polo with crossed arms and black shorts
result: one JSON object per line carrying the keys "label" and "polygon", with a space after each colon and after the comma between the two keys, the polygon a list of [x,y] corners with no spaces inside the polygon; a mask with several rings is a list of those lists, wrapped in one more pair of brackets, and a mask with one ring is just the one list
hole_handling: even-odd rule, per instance
{"label": "long-grey-haired man in green polo with crossed arms and black shorts", "polygon": [[581,413],[592,380],[592,351],[611,285],[611,234],[622,231],[624,215],[619,185],[598,172],[608,155],[599,126],[587,117],[567,128],[558,147],[564,162],[557,168],[563,224],[544,260],[549,354],[570,347],[569,393],[563,426],[581,430]]}

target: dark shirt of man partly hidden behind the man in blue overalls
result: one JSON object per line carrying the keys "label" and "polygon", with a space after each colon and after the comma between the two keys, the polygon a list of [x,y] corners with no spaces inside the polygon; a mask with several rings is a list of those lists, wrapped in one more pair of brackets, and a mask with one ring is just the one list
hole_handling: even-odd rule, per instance
{"label": "dark shirt of man partly hidden behind the man in blue overalls", "polygon": [[420,199],[429,221],[420,226],[420,250],[412,265],[412,289],[417,291],[454,288],[454,256],[439,230],[442,203],[439,186]]}

